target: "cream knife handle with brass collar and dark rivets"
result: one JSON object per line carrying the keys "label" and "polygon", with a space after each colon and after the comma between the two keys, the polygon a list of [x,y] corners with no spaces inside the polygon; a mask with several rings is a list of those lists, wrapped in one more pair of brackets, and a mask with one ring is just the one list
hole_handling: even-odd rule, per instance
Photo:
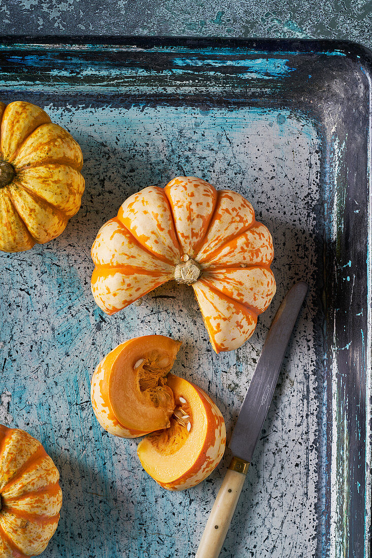
{"label": "cream knife handle with brass collar and dark rivets", "polygon": [[233,457],[213,504],[195,558],[218,558],[238,503],[249,463]]}

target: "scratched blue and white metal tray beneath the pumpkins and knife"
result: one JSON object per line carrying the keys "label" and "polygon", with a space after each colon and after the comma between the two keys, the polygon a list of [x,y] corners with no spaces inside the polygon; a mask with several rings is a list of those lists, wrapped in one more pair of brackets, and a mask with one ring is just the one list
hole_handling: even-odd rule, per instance
{"label": "scratched blue and white metal tray beneath the pumpkins and knife", "polygon": [[[61,519],[44,556],[193,556],[228,451],[206,482],[166,492],[142,470],[136,441],[94,419],[90,378],[123,340],[173,336],[183,341],[175,373],[206,389],[231,432],[298,279],[310,285],[306,306],[221,556],[368,556],[368,53],[298,41],[110,42],[0,47],[1,99],[39,104],[84,153],[82,208],[63,235],[0,255],[0,420],[39,438],[61,473]],[[274,236],[278,292],[235,352],[213,353],[190,288],[168,283],[111,317],[90,294],[98,228],[128,195],[177,175],[239,191]]]}

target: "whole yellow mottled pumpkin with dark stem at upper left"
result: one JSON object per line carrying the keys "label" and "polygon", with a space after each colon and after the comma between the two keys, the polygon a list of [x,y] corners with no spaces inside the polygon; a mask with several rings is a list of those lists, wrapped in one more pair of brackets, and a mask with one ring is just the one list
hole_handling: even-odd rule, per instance
{"label": "whole yellow mottled pumpkin with dark stem at upper left", "polygon": [[0,103],[0,119],[0,250],[22,252],[58,237],[79,210],[83,155],[31,103]]}

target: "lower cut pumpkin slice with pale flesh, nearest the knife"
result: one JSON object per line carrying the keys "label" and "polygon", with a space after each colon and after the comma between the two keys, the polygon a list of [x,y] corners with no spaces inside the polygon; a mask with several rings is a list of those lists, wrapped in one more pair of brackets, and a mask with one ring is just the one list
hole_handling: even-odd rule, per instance
{"label": "lower cut pumpkin slice with pale flesh, nearest the knife", "polygon": [[142,467],[168,490],[200,483],[216,468],[225,451],[226,429],[221,411],[194,384],[169,374],[176,409],[170,428],[141,440]]}

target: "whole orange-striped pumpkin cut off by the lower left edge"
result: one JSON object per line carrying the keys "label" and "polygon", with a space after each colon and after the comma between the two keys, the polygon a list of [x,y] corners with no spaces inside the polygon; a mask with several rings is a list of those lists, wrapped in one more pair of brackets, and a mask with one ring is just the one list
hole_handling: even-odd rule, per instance
{"label": "whole orange-striped pumpkin cut off by the lower left edge", "polygon": [[39,441],[0,425],[0,556],[27,558],[45,550],[59,521],[59,473]]}

